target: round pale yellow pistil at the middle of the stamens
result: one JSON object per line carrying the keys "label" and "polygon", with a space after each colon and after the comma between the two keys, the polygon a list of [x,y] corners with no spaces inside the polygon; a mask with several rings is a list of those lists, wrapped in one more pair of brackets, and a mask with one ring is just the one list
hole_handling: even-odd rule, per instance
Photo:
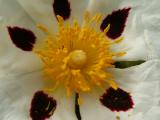
{"label": "round pale yellow pistil at the middle of the stamens", "polygon": [[69,55],[69,66],[73,69],[82,68],[87,61],[87,55],[83,50],[74,50]]}

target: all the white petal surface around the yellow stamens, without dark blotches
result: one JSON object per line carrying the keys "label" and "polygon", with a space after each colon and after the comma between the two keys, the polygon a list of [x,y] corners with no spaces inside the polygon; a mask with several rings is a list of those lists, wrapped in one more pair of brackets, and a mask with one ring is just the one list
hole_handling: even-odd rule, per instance
{"label": "all the white petal surface around the yellow stamens, without dark blotches", "polygon": [[[131,7],[123,32],[124,40],[112,47],[114,52],[125,51],[127,54],[114,60],[146,60],[145,63],[138,66],[126,69],[110,68],[108,70],[114,76],[118,87],[131,93],[135,103],[133,109],[127,112],[112,112],[103,106],[99,100],[107,86],[104,89],[102,88],[103,90],[96,88],[92,89],[91,92],[80,92],[82,120],[115,120],[116,116],[119,116],[121,120],[159,120],[160,2],[158,0],[69,1],[71,13],[64,24],[76,19],[82,25],[83,14],[86,10],[91,15],[101,13],[104,15],[102,18],[104,19],[112,11]],[[58,32],[58,22],[56,15],[54,15],[53,2],[54,0],[0,0],[0,16],[2,16],[0,17],[1,120],[31,119],[29,110],[34,93],[50,85],[50,83],[46,85],[46,82],[44,82],[49,77],[42,72],[43,62],[41,59],[32,52],[17,49],[12,44],[6,28],[7,26],[20,26],[30,29],[34,31],[37,37],[36,45],[41,43],[45,35],[37,29],[36,24],[44,25],[49,32],[54,31],[55,34]],[[74,60],[72,59],[71,62],[75,62]],[[73,90],[73,92],[75,91]],[[65,93],[66,89],[62,87],[50,94],[56,100],[57,106],[49,119],[77,119],[74,94],[67,98]]]}

